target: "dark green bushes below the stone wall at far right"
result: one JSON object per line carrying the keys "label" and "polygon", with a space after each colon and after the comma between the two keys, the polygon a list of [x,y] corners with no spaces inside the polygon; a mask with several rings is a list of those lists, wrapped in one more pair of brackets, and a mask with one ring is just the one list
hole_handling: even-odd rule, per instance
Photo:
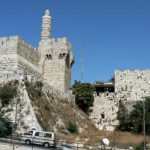
{"label": "dark green bushes below the stone wall at far right", "polygon": [[133,110],[128,112],[121,102],[118,111],[118,120],[120,122],[118,129],[122,131],[132,131],[134,133],[143,132],[143,109],[145,103],[145,129],[146,134],[150,135],[150,97],[144,101],[137,101]]}

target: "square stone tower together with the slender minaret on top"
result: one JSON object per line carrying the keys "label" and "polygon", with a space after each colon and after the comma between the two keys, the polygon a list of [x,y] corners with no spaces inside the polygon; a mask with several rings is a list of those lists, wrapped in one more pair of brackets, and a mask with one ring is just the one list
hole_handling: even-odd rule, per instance
{"label": "square stone tower together with the slender minaret on top", "polygon": [[71,44],[67,38],[51,38],[50,11],[42,17],[39,70],[44,83],[55,89],[67,91],[70,88],[71,68],[74,62]]}

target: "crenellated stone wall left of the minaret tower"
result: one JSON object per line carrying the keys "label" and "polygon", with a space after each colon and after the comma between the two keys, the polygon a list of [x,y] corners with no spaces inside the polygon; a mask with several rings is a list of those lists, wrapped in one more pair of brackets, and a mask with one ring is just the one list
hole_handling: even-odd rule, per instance
{"label": "crenellated stone wall left of the minaret tower", "polygon": [[32,79],[40,79],[39,54],[18,36],[0,38],[0,82],[19,80],[18,70]]}

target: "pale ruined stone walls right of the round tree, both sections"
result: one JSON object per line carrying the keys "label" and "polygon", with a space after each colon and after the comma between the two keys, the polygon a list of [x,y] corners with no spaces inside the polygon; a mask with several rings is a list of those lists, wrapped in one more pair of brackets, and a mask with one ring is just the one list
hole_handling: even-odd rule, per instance
{"label": "pale ruined stone walls right of the round tree, both sections", "polygon": [[114,82],[96,82],[94,86],[96,91],[90,118],[100,130],[113,130],[118,125],[116,117],[120,100],[131,111],[136,101],[150,96],[150,70],[116,70]]}

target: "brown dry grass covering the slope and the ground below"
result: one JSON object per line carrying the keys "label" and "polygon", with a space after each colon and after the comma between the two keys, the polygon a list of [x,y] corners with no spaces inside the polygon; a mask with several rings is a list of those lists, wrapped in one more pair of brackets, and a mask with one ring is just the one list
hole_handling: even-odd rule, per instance
{"label": "brown dry grass covering the slope and the ground below", "polygon": [[[34,89],[32,89],[34,90]],[[30,92],[30,91],[29,91]],[[35,93],[34,93],[35,92]],[[36,90],[32,91],[32,96],[37,95]],[[29,93],[30,94],[30,93]],[[114,132],[98,131],[88,116],[80,111],[77,106],[72,105],[66,99],[60,99],[57,95],[42,93],[41,96],[33,98],[37,118],[45,130],[53,130],[58,118],[67,126],[69,121],[75,122],[79,134],[68,134],[66,128],[58,130],[58,138],[68,142],[82,142],[90,145],[100,145],[102,138],[110,140],[110,145],[114,145]],[[150,138],[147,137],[148,143]],[[136,146],[143,141],[142,135],[131,134],[128,132],[115,132],[115,145],[118,147]]]}

